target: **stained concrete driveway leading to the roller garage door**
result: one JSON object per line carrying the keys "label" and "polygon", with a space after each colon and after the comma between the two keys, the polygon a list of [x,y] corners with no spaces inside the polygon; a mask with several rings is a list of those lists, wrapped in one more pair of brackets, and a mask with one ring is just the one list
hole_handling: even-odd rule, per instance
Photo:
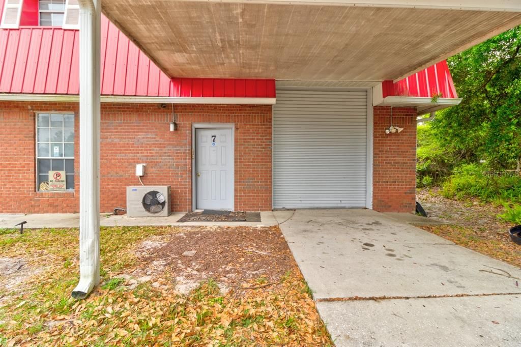
{"label": "stained concrete driveway leading to the roller garage door", "polygon": [[521,345],[519,268],[372,210],[280,228],[337,346]]}

